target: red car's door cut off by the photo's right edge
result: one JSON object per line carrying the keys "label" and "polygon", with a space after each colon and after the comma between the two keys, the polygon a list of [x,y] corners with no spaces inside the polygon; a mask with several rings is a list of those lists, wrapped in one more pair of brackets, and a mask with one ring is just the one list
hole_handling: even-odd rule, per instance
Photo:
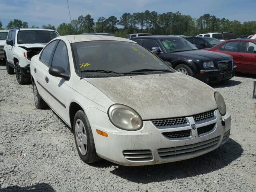
{"label": "red car's door cut off by the photo's right edge", "polygon": [[256,73],[256,44],[242,41],[238,52],[237,71]]}

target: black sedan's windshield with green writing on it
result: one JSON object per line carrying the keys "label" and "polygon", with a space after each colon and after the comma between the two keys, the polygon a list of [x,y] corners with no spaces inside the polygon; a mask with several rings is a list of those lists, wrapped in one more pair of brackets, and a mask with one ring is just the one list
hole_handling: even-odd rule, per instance
{"label": "black sedan's windshield with green writing on it", "polygon": [[169,53],[198,49],[192,43],[188,42],[188,40],[184,38],[165,39],[162,40],[162,44]]}

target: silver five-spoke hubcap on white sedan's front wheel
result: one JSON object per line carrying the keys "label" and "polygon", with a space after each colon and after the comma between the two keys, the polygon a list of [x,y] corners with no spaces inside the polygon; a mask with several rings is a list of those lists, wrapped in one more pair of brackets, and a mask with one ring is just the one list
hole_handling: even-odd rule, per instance
{"label": "silver five-spoke hubcap on white sedan's front wheel", "polygon": [[79,148],[79,151],[82,155],[86,155],[87,153],[87,136],[84,128],[84,124],[82,120],[76,120],[75,126],[75,134],[76,134],[76,144]]}

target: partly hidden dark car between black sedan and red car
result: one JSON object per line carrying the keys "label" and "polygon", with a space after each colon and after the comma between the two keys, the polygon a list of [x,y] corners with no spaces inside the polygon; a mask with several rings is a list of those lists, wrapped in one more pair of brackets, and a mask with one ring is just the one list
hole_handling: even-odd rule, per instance
{"label": "partly hidden dark car between black sedan and red car", "polygon": [[188,37],[185,39],[194,44],[198,49],[212,48],[221,43],[220,40],[212,37]]}

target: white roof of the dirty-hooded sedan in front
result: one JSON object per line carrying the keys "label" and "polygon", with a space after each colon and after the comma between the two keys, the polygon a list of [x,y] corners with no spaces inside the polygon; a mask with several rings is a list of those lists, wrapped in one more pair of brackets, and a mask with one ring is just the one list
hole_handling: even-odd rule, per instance
{"label": "white roof of the dirty-hooded sedan in front", "polygon": [[55,39],[64,39],[67,38],[70,43],[75,42],[84,42],[84,41],[123,41],[123,42],[131,42],[135,43],[132,40],[121,38],[121,37],[114,37],[114,36],[104,36],[104,35],[66,35],[60,36]]}

